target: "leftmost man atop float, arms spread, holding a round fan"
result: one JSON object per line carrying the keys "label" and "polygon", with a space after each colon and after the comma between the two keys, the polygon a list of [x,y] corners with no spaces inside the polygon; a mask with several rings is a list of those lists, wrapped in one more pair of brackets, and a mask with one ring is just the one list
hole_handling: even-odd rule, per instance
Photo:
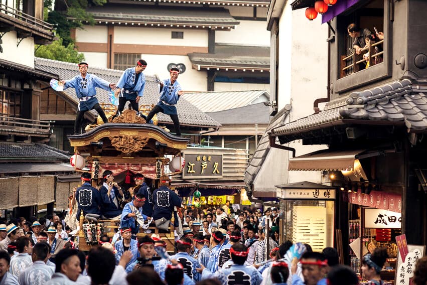
{"label": "leftmost man atop float, arms spread, holding a round fan", "polygon": [[104,123],[108,122],[104,111],[98,103],[98,99],[96,99],[95,87],[99,87],[107,91],[116,88],[115,84],[108,83],[96,75],[87,73],[88,64],[86,62],[80,62],[78,66],[80,75],[69,80],[61,80],[58,82],[59,85],[64,86],[64,90],[69,87],[74,88],[76,90],[77,98],[79,99],[76,121],[74,122],[74,134],[81,132],[83,115],[86,111],[95,109],[101,116]]}

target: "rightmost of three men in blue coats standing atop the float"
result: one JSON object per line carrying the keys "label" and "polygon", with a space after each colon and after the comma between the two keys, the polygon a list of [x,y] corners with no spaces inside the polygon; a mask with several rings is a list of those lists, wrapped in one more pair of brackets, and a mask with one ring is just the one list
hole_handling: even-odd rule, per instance
{"label": "rightmost of three men in blue coats standing atop the float", "polygon": [[175,106],[178,103],[180,96],[184,94],[184,91],[181,90],[181,85],[177,81],[179,73],[180,70],[173,67],[170,70],[171,78],[160,82],[159,102],[148,114],[147,122],[149,122],[158,112],[170,115],[174,122],[176,134],[181,136],[180,121],[178,119],[177,107]]}

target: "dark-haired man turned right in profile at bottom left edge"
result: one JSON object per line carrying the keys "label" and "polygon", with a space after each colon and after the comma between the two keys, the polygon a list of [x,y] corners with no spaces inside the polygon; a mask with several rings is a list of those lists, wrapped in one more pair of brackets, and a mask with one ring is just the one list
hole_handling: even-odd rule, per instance
{"label": "dark-haired man turned right in profile at bottom left edge", "polygon": [[58,252],[55,258],[56,268],[46,285],[71,285],[79,277],[82,271],[77,249],[64,248]]}

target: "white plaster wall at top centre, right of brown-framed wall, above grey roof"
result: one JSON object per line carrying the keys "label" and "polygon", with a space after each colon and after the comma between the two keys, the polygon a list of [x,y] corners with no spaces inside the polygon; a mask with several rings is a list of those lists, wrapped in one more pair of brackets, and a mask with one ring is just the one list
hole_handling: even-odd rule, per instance
{"label": "white plaster wall at top centre, right of brown-framed wall, above grey roof", "polygon": [[270,46],[270,32],[265,21],[239,21],[231,31],[217,30],[215,43]]}

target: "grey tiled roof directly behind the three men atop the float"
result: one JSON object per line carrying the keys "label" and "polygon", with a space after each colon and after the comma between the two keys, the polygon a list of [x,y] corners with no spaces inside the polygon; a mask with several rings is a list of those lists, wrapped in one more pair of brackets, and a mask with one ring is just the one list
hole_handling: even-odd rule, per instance
{"label": "grey tiled roof directly behind the three men atop the float", "polygon": [[[90,63],[89,63],[90,64]],[[58,74],[60,79],[70,79],[76,76],[78,72],[77,64],[50,60],[44,58],[36,58],[35,67],[38,70],[44,70],[53,74]],[[109,82],[116,83],[123,71],[106,68],[92,67],[89,65],[89,73],[99,76]],[[146,87],[144,96],[139,100],[139,104],[156,104],[159,98],[158,84],[155,77],[146,74]],[[68,88],[64,92],[77,105],[77,97],[73,88]],[[96,90],[98,101],[101,103],[109,103],[107,91],[98,88]],[[202,112],[200,109],[189,103],[185,97],[180,98],[177,104],[178,116],[182,125],[196,125],[201,127],[219,126],[220,123],[215,121],[209,115]],[[93,111],[94,112],[94,111]],[[169,115],[158,113],[160,122],[173,123]]]}

